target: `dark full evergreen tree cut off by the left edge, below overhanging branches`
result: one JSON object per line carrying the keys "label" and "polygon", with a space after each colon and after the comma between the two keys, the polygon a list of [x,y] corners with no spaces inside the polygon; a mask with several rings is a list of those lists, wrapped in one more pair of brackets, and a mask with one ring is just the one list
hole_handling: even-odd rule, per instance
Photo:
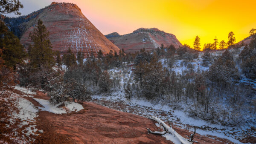
{"label": "dark full evergreen tree cut off by the left edge, below overhanging branches", "polygon": [[26,52],[20,44],[20,40],[9,31],[4,22],[0,20],[0,49],[3,50],[1,57],[5,65],[16,69],[16,64],[22,63]]}

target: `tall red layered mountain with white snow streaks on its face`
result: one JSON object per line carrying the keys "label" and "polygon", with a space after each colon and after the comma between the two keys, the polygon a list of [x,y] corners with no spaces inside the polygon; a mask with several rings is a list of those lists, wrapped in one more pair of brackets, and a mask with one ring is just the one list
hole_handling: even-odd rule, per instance
{"label": "tall red layered mountain with white snow streaks on its face", "polygon": [[[49,31],[52,49],[61,53],[71,48],[73,52],[87,54],[100,49],[103,53],[119,51],[73,3],[55,3],[27,16],[9,18],[4,21],[20,37],[20,42],[27,47],[32,44],[29,33],[33,31],[38,19],[41,19]],[[16,27],[16,28],[15,28]]]}

